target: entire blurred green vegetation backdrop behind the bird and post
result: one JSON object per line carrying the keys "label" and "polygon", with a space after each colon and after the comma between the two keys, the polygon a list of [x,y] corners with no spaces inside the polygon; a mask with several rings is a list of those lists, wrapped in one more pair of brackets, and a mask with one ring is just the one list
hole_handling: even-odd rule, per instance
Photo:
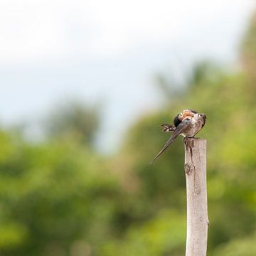
{"label": "entire blurred green vegetation backdrop behind the bird and post", "polygon": [[256,255],[256,18],[240,48],[241,68],[199,63],[186,90],[127,130],[112,157],[94,149],[99,113],[75,104],[49,117],[44,142],[0,132],[0,254],[184,255],[183,144],[149,161],[168,134],[158,124],[191,107],[207,114],[208,255]]}

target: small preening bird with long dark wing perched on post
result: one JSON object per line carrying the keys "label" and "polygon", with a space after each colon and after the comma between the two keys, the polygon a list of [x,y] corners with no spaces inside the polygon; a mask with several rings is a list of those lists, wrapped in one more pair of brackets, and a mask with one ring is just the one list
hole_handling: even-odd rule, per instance
{"label": "small preening bird with long dark wing perched on post", "polygon": [[186,143],[187,138],[193,138],[206,124],[206,114],[198,113],[196,110],[183,110],[181,113],[177,114],[174,117],[174,124],[161,124],[163,127],[163,132],[173,132],[171,137],[159,151],[154,159],[150,162],[153,162],[170,146],[174,139],[181,135],[183,140]]}

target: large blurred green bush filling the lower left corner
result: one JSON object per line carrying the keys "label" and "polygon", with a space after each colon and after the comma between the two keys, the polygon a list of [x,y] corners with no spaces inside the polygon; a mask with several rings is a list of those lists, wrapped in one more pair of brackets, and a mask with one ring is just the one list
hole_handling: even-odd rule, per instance
{"label": "large blurred green bush filling the lower left corner", "polygon": [[0,143],[1,255],[89,255],[115,233],[119,185],[104,159],[73,139]]}

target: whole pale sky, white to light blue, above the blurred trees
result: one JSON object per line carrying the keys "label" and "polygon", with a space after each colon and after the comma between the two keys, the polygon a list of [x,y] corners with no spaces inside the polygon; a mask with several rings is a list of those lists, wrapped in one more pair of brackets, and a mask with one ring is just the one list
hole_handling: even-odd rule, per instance
{"label": "whole pale sky, white to light blue, above the blurred trees", "polygon": [[36,127],[60,101],[103,102],[97,144],[113,151],[135,119],[161,105],[156,73],[181,80],[198,60],[237,61],[255,7],[252,0],[0,0],[0,123]]}

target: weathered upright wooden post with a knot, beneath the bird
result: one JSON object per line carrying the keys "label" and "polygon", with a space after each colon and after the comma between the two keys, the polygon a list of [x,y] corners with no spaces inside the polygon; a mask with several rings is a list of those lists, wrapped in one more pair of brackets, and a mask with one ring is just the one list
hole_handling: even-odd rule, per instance
{"label": "weathered upright wooden post with a knot, beneath the bird", "polygon": [[206,139],[185,144],[187,193],[186,256],[206,256],[208,212],[206,190]]}

